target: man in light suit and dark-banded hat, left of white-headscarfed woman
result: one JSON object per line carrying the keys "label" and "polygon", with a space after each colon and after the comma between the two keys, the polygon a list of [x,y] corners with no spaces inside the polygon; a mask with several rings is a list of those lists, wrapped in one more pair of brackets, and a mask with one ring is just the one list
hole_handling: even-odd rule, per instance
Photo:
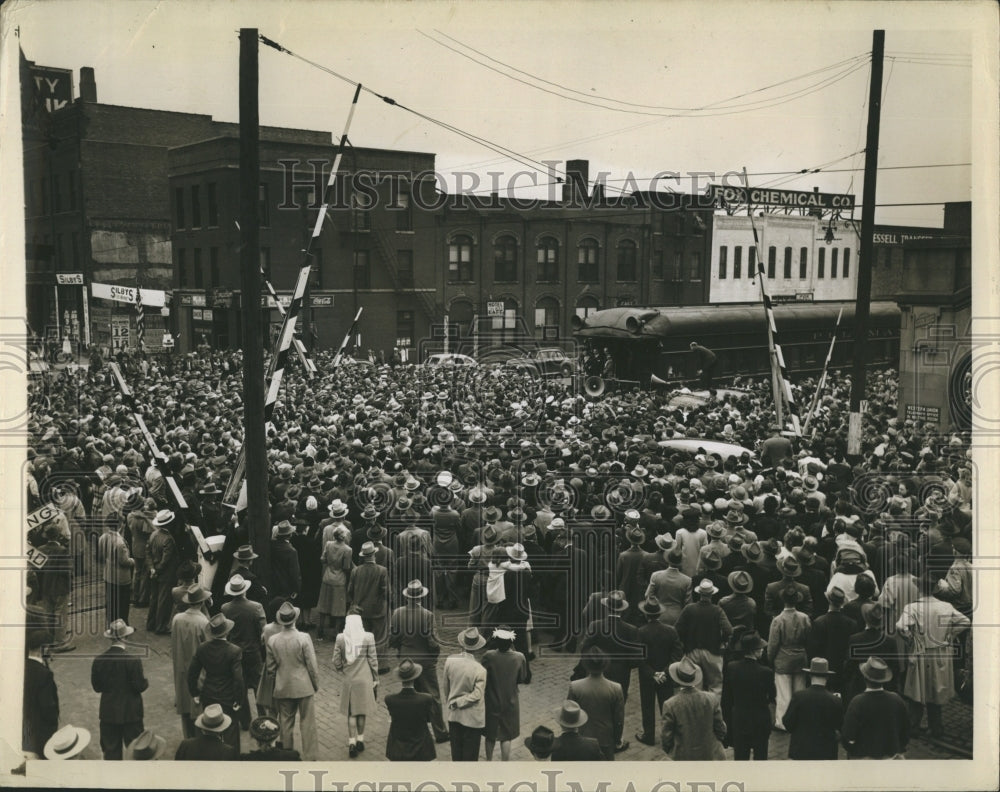
{"label": "man in light suit and dark-banded hat, left of white-headscarfed woman", "polygon": [[296,715],[302,730],[302,758],[317,758],[316,715],[313,694],[319,690],[316,651],[307,633],[299,632],[295,622],[299,609],[286,601],[275,614],[280,632],[267,639],[267,672],[274,676],[274,706],[281,727],[281,744],[294,747]]}

